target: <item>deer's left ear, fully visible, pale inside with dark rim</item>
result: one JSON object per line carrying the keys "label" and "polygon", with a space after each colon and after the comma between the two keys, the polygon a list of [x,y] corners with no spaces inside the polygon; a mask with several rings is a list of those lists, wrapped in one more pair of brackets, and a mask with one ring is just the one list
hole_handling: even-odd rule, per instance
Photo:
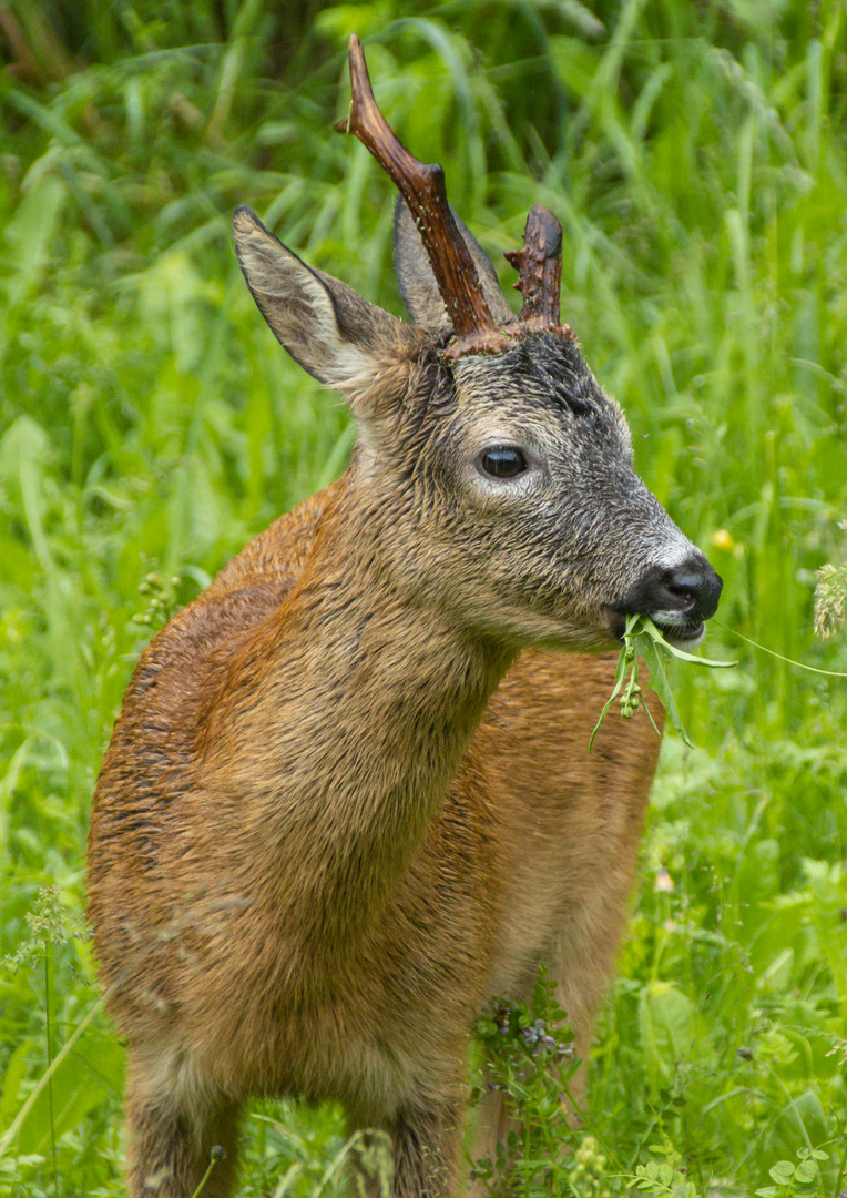
{"label": "deer's left ear, fully visible, pale inside with dark rim", "polygon": [[[301,262],[246,205],[235,210],[238,265],[277,340],[319,382],[359,388],[403,345],[403,323],[345,283]],[[407,326],[406,326],[407,327]]]}

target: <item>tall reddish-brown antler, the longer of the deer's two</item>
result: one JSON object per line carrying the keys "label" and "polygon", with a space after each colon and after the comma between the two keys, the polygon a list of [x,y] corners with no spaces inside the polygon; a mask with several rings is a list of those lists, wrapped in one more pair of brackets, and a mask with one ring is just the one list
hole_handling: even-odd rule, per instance
{"label": "tall reddish-brown antler, the longer of the deer's two", "polygon": [[386,121],[374,99],[356,34],[350,36],[350,114],[335,129],[355,134],[367,146],[409,205],[455,329],[456,344],[450,356],[498,352],[506,346],[506,338],[485,302],[471,252],[447,202],[444,173],[437,164],[428,167],[415,158]]}

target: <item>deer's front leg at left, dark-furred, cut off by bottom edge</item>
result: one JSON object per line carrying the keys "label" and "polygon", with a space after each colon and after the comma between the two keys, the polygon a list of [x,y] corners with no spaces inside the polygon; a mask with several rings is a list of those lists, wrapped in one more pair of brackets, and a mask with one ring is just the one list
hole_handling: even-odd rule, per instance
{"label": "deer's front leg at left, dark-furred, cut off by bottom edge", "polygon": [[150,1084],[129,1060],[126,1099],[129,1198],[229,1198],[235,1187],[240,1105],[222,1095],[190,1095]]}

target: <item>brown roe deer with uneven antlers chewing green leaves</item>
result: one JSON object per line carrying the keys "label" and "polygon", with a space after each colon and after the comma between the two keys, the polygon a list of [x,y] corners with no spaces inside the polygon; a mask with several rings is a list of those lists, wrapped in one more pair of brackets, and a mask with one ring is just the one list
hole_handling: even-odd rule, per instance
{"label": "brown roe deer with uneven antlers chewing green leaves", "polygon": [[515,319],[355,36],[350,74],[337,128],[399,188],[411,322],[236,210],[261,315],[358,440],[153,637],[93,800],[132,1198],[189,1198],[210,1154],[204,1194],[231,1194],[254,1096],[381,1129],[393,1198],[459,1192],[474,1018],[547,961],[586,1057],[613,969],[659,751],[640,713],[587,751],[627,617],[694,645],[721,589],[559,323],[556,218],[507,255]]}

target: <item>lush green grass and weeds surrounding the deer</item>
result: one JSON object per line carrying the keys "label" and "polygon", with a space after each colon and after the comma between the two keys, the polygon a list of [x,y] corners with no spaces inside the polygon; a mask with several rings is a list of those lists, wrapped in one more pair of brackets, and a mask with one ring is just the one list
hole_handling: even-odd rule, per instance
{"label": "lush green grass and weeds surrounding the deer", "polygon": [[[847,514],[847,12],[12,0],[2,19],[0,1194],[111,1198],[121,1048],[95,1015],[59,1059],[97,997],[99,757],[151,630],[351,444],[259,321],[229,212],[250,202],[400,311],[391,184],[328,132],[357,30],[496,261],[532,202],[562,218],[564,319],[724,576],[725,624],[843,671],[843,630],[812,621]],[[672,678],[696,748],[663,750],[557,1174],[577,1198],[748,1194],[821,1150],[811,1180],[778,1169],[779,1198],[845,1185],[847,691],[720,629],[707,652],[740,664]],[[338,1112],[259,1106],[247,1140],[246,1194],[339,1191]]]}

